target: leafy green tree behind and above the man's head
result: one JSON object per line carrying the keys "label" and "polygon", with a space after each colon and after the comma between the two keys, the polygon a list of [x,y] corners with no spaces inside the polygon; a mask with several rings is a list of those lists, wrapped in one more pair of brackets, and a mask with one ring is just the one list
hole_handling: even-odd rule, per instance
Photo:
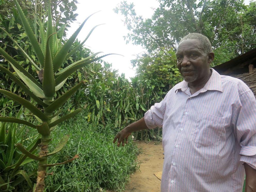
{"label": "leafy green tree behind and above the man's head", "polygon": [[[214,49],[226,50],[222,55],[225,58],[220,58],[220,61],[255,47],[255,2],[249,6],[245,6],[243,0],[159,2],[160,6],[151,19],[137,16],[133,3],[124,1],[114,9],[124,15],[124,23],[131,31],[125,36],[127,43],[132,41],[142,45],[150,53],[161,47],[175,50],[183,36],[202,33],[210,39]],[[218,63],[215,61],[216,65]]]}

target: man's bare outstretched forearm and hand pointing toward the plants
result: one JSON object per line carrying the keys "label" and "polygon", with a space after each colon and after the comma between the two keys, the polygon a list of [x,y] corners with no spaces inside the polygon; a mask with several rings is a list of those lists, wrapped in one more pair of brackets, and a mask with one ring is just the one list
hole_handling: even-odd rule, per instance
{"label": "man's bare outstretched forearm and hand pointing toward the plants", "polygon": [[128,125],[122,131],[120,131],[114,138],[113,143],[115,143],[116,140],[118,139],[117,147],[120,146],[121,142],[122,142],[122,146],[124,146],[124,142],[126,144],[128,143],[128,137],[132,134],[132,132],[144,130],[144,129],[148,129],[148,127],[145,123],[144,117],[142,117],[140,120]]}

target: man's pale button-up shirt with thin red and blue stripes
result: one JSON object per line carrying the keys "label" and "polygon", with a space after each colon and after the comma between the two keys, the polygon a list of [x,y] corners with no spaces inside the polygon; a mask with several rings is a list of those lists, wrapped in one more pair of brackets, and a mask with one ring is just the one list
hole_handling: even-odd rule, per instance
{"label": "man's pale button-up shirt with thin red and blue stripes", "polygon": [[163,127],[162,192],[241,192],[243,163],[256,169],[254,94],[211,70],[201,90],[182,81],[145,113],[149,129]]}

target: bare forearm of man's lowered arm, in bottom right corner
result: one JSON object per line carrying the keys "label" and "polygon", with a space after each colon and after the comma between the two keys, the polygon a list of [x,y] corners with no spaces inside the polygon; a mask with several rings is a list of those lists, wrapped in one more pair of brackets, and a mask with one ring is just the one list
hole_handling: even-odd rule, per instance
{"label": "bare forearm of man's lowered arm, in bottom right corner", "polygon": [[256,192],[256,170],[244,163],[245,169],[245,192]]}

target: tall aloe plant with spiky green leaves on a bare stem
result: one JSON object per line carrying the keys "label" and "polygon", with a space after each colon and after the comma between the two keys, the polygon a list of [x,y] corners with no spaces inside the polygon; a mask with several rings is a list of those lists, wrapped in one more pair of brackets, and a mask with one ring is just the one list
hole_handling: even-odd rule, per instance
{"label": "tall aloe plant with spiky green leaves on a bare stem", "polygon": [[[94,61],[97,61],[109,54],[95,58],[95,56],[100,53],[99,52],[87,58],[81,59],[77,62],[74,62],[69,66],[67,66],[66,68],[62,69],[61,68],[62,63],[65,62],[65,60],[68,59],[84,43],[82,42],[82,44],[78,45],[77,47],[75,47],[75,49],[69,52],[79,31],[82,29],[85,22],[87,21],[87,19],[89,19],[89,17],[91,17],[91,15],[84,20],[82,25],[75,31],[75,33],[62,45],[62,36],[60,39],[57,37],[56,29],[53,26],[50,0],[49,0],[48,11],[47,11],[48,20],[47,20],[46,32],[45,30],[43,30],[44,23],[42,23],[41,20],[38,19],[38,24],[40,27],[40,34],[39,34],[40,42],[38,42],[19,3],[17,2],[17,0],[14,0],[14,2],[17,7],[19,16],[21,18],[23,28],[25,29],[28,39],[30,41],[30,44],[34,49],[38,62],[31,59],[29,55],[27,55],[26,52],[21,49],[18,43],[11,38],[11,36],[6,32],[5,29],[3,28],[0,28],[0,29],[2,30],[3,33],[6,33],[12,39],[12,41],[18,46],[18,48],[24,54],[24,56],[29,60],[30,64],[33,65],[36,68],[36,70],[39,71],[39,74],[38,74],[38,77],[32,76],[23,67],[21,67],[19,63],[15,61],[14,58],[8,55],[2,48],[0,48],[0,54],[11,64],[16,75],[3,66],[0,66],[0,70],[8,74],[14,82],[16,82],[28,95],[30,95],[30,97],[33,98],[34,101],[37,103],[37,106],[35,106],[33,103],[7,90],[0,89],[0,93],[4,94],[9,99],[18,102],[22,106],[27,108],[31,112],[30,116],[35,117],[37,120],[36,121],[37,123],[32,124],[31,122],[21,120],[19,118],[10,118],[10,117],[0,117],[0,121],[20,123],[20,124],[29,126],[33,129],[37,129],[38,133],[40,134],[41,142],[38,145],[40,148],[38,155],[34,155],[33,153],[31,153],[32,152],[31,150],[25,149],[25,147],[22,146],[22,143],[18,143],[16,145],[16,147],[25,156],[28,156],[29,158],[34,159],[35,161],[38,161],[37,183],[35,185],[34,191],[39,192],[44,190],[44,186],[45,186],[44,178],[46,175],[47,167],[69,163],[73,161],[75,158],[78,158],[78,156],[76,155],[74,158],[71,158],[66,162],[56,163],[56,164],[47,164],[47,157],[59,152],[63,148],[63,146],[65,145],[69,137],[69,135],[66,135],[64,138],[62,138],[58,146],[52,152],[49,153],[48,145],[49,145],[49,142],[51,141],[51,132],[55,129],[55,127],[59,123],[74,117],[82,109],[78,108],[72,113],[60,118],[59,118],[59,112],[57,110],[60,110],[59,108],[61,108],[62,105],[78,89],[82,87],[84,82],[80,82],[79,84],[71,88],[69,91],[63,93],[57,99],[54,98],[56,91],[58,91],[63,86],[67,78],[72,73],[74,73],[77,69],[80,69],[85,65],[88,65]],[[90,31],[86,39],[90,36],[93,29]],[[60,33],[63,34],[63,31],[64,31],[64,28]]]}

